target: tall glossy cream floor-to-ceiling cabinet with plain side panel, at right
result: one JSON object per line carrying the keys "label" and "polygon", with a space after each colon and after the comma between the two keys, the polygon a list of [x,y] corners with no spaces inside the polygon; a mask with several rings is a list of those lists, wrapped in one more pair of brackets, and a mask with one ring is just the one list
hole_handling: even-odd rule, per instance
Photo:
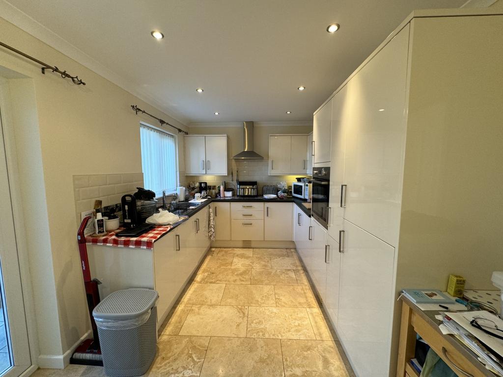
{"label": "tall glossy cream floor-to-ceiling cabinet with plain side panel, at right", "polygon": [[450,273],[489,289],[503,268],[503,16],[435,16],[412,14],[314,114],[330,217],[304,254],[359,376],[394,374],[399,290]]}

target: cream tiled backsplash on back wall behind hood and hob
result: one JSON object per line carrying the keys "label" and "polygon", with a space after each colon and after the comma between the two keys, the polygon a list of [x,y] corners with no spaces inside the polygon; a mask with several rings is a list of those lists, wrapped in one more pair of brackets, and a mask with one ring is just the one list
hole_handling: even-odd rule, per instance
{"label": "cream tiled backsplash on back wall behind hood and hob", "polygon": [[[210,186],[218,186],[222,180],[236,184],[236,172],[239,180],[256,180],[259,185],[259,195],[262,195],[262,187],[265,185],[276,186],[280,181],[286,181],[291,186],[295,177],[307,177],[307,174],[295,175],[269,175],[269,160],[232,160],[227,161],[229,173],[232,175],[187,175],[187,181],[203,181]],[[234,187],[235,189],[235,187]]]}

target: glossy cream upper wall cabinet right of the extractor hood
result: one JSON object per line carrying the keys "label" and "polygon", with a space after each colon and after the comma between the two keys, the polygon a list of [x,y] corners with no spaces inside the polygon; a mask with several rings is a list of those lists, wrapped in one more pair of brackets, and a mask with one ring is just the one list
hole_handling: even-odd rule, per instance
{"label": "glossy cream upper wall cabinet right of the extractor hood", "polygon": [[269,175],[305,174],[307,135],[269,135]]}

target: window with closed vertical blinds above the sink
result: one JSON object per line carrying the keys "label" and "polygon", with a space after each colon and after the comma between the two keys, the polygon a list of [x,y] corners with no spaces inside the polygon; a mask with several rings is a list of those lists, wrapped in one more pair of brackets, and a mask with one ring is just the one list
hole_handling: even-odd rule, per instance
{"label": "window with closed vertical blinds above the sink", "polygon": [[177,147],[175,136],[140,125],[141,167],[145,189],[175,192],[177,189]]}

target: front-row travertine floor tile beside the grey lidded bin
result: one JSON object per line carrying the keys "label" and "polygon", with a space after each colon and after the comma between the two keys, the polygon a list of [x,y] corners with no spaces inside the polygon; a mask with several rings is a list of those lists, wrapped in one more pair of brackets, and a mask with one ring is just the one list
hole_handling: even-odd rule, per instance
{"label": "front-row travertine floor tile beside the grey lidded bin", "polygon": [[203,336],[160,336],[157,355],[145,377],[199,376],[209,341]]}

